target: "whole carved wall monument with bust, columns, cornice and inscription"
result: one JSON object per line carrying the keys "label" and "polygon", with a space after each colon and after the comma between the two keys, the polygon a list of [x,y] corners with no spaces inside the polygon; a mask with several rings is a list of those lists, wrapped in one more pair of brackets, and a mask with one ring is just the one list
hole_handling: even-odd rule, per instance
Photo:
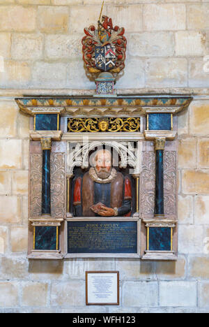
{"label": "whole carved wall monument with bust, columns, cornice and inscription", "polygon": [[16,99],[31,115],[29,258],[176,260],[190,96]]}

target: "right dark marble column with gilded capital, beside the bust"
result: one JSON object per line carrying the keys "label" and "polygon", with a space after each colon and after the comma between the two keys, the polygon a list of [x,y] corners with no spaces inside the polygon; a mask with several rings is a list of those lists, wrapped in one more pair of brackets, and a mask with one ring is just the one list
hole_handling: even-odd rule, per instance
{"label": "right dark marble column with gilded capital, beside the bust", "polygon": [[164,216],[164,145],[165,138],[155,140],[155,216]]}

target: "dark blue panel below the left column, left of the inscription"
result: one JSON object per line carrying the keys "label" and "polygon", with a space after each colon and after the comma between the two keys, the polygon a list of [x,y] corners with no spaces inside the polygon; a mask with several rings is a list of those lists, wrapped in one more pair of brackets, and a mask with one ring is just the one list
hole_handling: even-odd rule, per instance
{"label": "dark blue panel below the left column, left of the inscription", "polygon": [[36,227],[35,249],[56,250],[56,227]]}

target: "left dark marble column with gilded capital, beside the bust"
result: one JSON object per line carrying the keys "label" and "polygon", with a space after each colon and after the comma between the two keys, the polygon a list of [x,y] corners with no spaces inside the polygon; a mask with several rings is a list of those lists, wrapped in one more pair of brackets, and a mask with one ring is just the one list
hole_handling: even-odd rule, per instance
{"label": "left dark marble column with gilded capital, beside the bust", "polygon": [[51,138],[41,139],[42,144],[42,215],[51,215],[51,186],[50,186],[50,152]]}

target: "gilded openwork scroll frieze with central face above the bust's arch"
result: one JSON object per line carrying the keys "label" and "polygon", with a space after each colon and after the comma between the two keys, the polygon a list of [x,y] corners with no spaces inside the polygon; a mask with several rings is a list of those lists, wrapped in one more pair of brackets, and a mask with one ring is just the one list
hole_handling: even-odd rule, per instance
{"label": "gilded openwork scroll frieze with central face above the bust's arch", "polygon": [[140,118],[68,118],[68,132],[139,132]]}

